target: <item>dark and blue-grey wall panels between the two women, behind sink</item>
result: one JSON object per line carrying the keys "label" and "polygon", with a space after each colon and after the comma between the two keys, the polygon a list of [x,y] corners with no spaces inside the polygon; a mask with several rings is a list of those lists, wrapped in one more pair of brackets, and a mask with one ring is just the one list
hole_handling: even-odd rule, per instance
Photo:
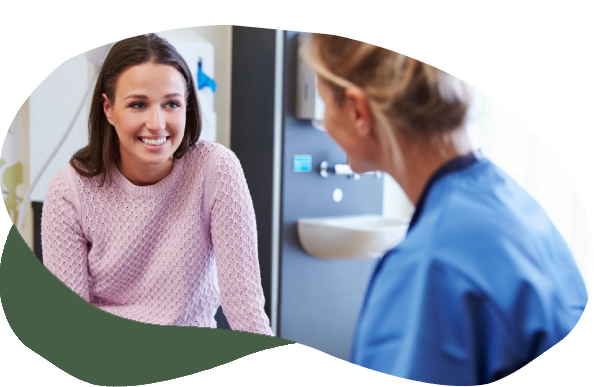
{"label": "dark and blue-grey wall panels between the two women, behind sink", "polygon": [[[295,117],[297,34],[234,27],[231,148],[242,163],[256,208],[263,284],[271,284],[264,291],[273,330],[347,367],[356,320],[379,257],[314,258],[301,247],[297,221],[380,215],[384,179],[323,178],[317,172],[322,161],[346,164],[347,156],[311,120]],[[309,171],[294,170],[296,156],[311,158]],[[342,191],[339,202],[333,200],[336,189]]]}

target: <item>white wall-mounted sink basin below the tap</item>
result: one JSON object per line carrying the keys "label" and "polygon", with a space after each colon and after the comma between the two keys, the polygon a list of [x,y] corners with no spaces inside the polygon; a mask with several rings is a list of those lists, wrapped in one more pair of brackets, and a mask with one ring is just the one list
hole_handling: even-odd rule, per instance
{"label": "white wall-mounted sink basin below the tap", "polygon": [[381,215],[308,218],[297,221],[299,240],[311,256],[321,259],[379,258],[402,242],[409,219]]}

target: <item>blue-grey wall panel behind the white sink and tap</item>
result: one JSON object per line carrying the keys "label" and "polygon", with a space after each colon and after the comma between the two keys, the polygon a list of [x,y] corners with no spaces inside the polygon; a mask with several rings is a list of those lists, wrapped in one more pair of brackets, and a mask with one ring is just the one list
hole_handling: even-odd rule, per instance
{"label": "blue-grey wall panel behind the white sink and tap", "polygon": [[[346,163],[346,153],[311,122],[294,118],[296,34],[287,31],[285,41],[280,335],[337,357],[339,367],[347,367],[356,320],[377,260],[313,258],[301,248],[297,220],[381,214],[383,179],[325,179],[315,171],[324,160]],[[312,156],[312,172],[293,172],[293,156],[298,154]],[[339,203],[332,200],[336,188],[344,193]]]}

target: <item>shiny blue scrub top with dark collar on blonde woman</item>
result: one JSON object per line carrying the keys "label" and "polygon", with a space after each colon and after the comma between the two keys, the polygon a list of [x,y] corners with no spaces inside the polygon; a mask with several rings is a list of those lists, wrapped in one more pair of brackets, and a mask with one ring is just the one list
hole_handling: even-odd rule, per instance
{"label": "shiny blue scrub top with dark collar on blonde woman", "polygon": [[488,159],[446,164],[378,262],[351,367],[369,384],[585,386],[587,366],[588,297],[563,237]]}

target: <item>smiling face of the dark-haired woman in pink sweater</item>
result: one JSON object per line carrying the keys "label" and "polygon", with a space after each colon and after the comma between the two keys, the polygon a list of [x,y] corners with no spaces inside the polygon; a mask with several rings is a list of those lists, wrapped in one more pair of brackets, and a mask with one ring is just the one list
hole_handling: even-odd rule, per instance
{"label": "smiling face of the dark-haired woman in pink sweater", "polygon": [[130,67],[117,80],[114,101],[103,94],[103,108],[124,169],[171,166],[186,125],[186,86],[177,69],[152,62]]}

